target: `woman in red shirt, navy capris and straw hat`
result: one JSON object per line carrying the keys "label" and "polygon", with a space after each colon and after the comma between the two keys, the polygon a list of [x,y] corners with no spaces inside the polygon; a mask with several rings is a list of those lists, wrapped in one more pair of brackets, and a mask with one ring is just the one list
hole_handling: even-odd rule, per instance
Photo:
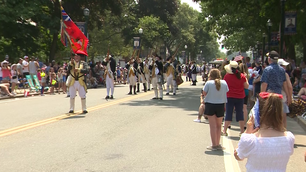
{"label": "woman in red shirt, navy capris and straw hat", "polygon": [[224,128],[222,131],[223,136],[227,136],[227,128],[230,122],[233,120],[234,107],[236,109],[236,121],[239,122],[240,134],[244,132],[244,117],[243,117],[243,103],[245,92],[244,88],[248,89],[248,81],[246,80],[244,73],[240,72],[238,63],[231,61],[226,65],[225,70],[227,74],[224,76],[229,92],[226,93],[226,116],[224,119]]}

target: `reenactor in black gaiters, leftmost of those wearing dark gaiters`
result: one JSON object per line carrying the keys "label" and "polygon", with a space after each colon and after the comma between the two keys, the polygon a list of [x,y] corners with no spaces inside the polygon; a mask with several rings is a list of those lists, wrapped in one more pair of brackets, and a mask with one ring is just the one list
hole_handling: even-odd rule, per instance
{"label": "reenactor in black gaiters, leftmost of those wearing dark gaiters", "polygon": [[136,83],[138,80],[137,77],[137,67],[138,63],[136,60],[131,57],[131,60],[126,64],[125,68],[128,69],[127,78],[128,78],[128,84],[130,85],[130,92],[128,94],[132,94],[132,88],[134,88],[134,94],[136,93]]}

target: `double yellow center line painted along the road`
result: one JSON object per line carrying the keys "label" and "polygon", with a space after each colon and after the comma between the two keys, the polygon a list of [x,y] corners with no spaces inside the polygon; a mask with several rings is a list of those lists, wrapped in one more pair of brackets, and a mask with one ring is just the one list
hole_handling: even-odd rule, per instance
{"label": "double yellow center line painted along the road", "polygon": [[[189,82],[185,82],[181,85],[186,85],[186,84],[189,84]],[[109,102],[109,103],[101,104],[101,105],[98,105],[98,106],[95,106],[95,107],[90,107],[90,108],[87,109],[87,111],[90,112],[90,111],[93,111],[93,110],[98,110],[98,109],[101,109],[101,108],[104,108],[104,107],[108,107],[108,106],[111,106],[111,105],[115,105],[115,104],[118,104],[118,103],[129,101],[129,100],[132,100],[132,99],[136,99],[136,98],[139,98],[139,97],[142,97],[142,96],[145,96],[145,95],[149,95],[149,94],[152,94],[152,93],[154,93],[154,92],[141,93],[139,95],[135,95],[135,96],[132,96],[132,97],[127,97],[127,98],[124,98],[124,99],[120,99],[120,100],[112,101],[112,102]],[[30,123],[30,124],[26,124],[26,125],[21,125],[21,126],[14,127],[14,128],[11,128],[11,129],[6,129],[6,130],[3,130],[3,131],[0,131],[0,137],[7,136],[9,134],[13,134],[13,133],[17,133],[17,132],[21,132],[21,131],[31,129],[31,128],[34,128],[34,127],[37,127],[37,126],[49,124],[51,122],[59,121],[61,119],[69,118],[69,117],[76,116],[76,115],[79,115],[79,114],[82,114],[82,110],[75,111],[74,114],[71,114],[71,115],[63,114],[63,115],[60,115],[60,116],[57,116],[57,117],[48,118],[48,119],[45,119],[45,120],[33,122],[33,123]]]}

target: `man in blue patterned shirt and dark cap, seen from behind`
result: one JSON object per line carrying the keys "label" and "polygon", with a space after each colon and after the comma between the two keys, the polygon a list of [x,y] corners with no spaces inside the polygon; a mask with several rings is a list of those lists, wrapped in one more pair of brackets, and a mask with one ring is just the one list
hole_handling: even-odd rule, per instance
{"label": "man in blue patterned shirt and dark cap, seen from behind", "polygon": [[282,94],[282,88],[284,87],[284,91],[287,97],[290,97],[285,69],[277,64],[279,58],[279,54],[276,51],[271,51],[268,54],[268,62],[269,65],[263,70],[263,75],[261,76],[261,89],[260,92],[271,91],[274,93]]}

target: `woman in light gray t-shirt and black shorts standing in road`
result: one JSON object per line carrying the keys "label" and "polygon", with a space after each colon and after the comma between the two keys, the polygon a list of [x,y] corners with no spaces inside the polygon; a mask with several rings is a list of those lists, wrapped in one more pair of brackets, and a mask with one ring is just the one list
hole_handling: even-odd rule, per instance
{"label": "woman in light gray t-shirt and black shorts standing in road", "polygon": [[220,144],[221,126],[224,116],[224,106],[227,103],[226,92],[229,88],[225,80],[221,80],[220,71],[212,69],[208,75],[208,81],[203,88],[205,110],[210,127],[212,145],[207,146],[207,149],[212,151],[224,150]]}

